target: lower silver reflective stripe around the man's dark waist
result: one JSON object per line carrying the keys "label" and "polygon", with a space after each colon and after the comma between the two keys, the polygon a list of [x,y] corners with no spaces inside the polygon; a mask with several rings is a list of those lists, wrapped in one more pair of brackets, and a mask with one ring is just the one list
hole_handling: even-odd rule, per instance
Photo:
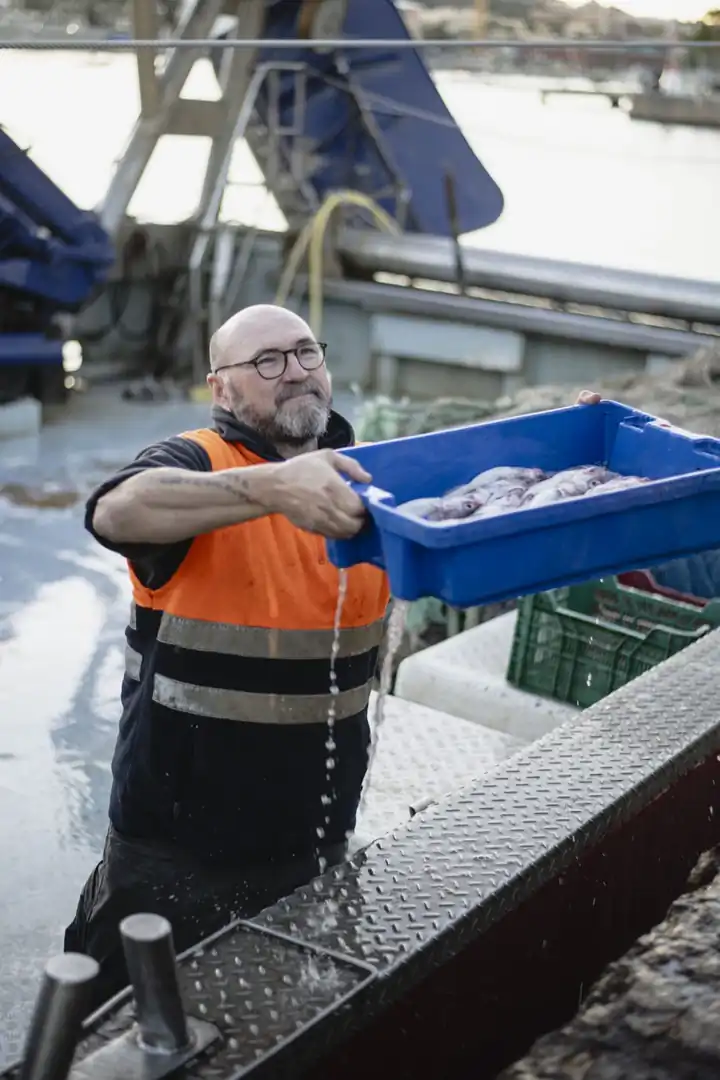
{"label": "lower silver reflective stripe around the man's dark waist", "polygon": [[[370,686],[341,690],[335,696],[336,717],[354,716],[365,708]],[[215,720],[243,720],[247,724],[324,724],[331,697],[329,693],[247,693],[245,690],[218,690],[193,686],[166,675],[155,675],[152,700],[166,708],[192,713]]]}

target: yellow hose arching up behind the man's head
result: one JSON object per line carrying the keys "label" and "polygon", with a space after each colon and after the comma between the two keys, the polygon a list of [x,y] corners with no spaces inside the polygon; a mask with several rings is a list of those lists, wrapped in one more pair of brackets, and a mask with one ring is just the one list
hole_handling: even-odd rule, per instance
{"label": "yellow hose arching up behind the man's head", "polygon": [[293,283],[302,259],[309,249],[309,321],[313,333],[317,337],[320,337],[323,329],[323,249],[325,232],[338,206],[359,206],[371,214],[375,221],[386,232],[398,234],[400,231],[397,222],[381,206],[378,206],[369,195],[364,195],[359,191],[335,191],[332,194],[326,195],[322,206],[320,206],[310,221],[308,221],[295,241],[281,275],[275,296],[275,303],[287,303]]}

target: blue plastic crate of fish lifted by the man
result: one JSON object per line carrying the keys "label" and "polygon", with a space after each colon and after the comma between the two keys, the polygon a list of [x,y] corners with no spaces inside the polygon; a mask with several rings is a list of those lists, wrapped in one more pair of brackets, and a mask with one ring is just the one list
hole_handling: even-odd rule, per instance
{"label": "blue plastic crate of fish lifted by the man", "polygon": [[[617,402],[513,417],[344,450],[372,475],[339,567],[386,569],[393,594],[473,607],[720,548],[720,440],[667,428]],[[438,496],[494,465],[548,472],[604,464],[655,483],[487,519],[425,522],[399,503]]]}

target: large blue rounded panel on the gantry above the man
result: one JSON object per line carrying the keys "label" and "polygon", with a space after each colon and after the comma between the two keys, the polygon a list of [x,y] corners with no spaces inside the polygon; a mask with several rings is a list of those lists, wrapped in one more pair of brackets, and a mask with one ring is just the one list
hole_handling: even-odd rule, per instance
{"label": "large blue rounded panel on the gantry above the man", "polygon": [[[299,33],[297,0],[269,0],[263,36],[294,38]],[[349,0],[343,37],[408,39],[392,0]],[[371,195],[395,216],[395,177],[409,190],[407,231],[452,234],[445,194],[445,173],[454,178],[459,231],[491,225],[503,208],[498,185],[477,160],[457,126],[422,59],[415,50],[262,50],[262,60],[301,60],[317,77],[308,83],[303,137],[316,156],[309,178],[318,202],[338,188]],[[328,84],[328,80],[330,84]],[[294,77],[283,77],[280,114],[291,126]],[[366,121],[356,102],[366,109]],[[268,94],[257,111],[266,120]],[[289,154],[293,139],[282,140]]]}

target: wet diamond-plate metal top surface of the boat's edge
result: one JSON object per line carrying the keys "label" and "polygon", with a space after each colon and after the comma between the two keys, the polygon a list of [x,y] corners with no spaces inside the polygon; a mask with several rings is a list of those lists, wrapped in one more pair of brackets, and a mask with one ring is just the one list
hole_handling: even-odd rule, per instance
{"label": "wet diamond-plate metal top surface of the boat's edge", "polygon": [[[191,954],[181,969],[189,1012],[215,1023],[225,1041],[187,1075],[266,1076],[254,1066],[272,1061],[273,1069],[282,1065],[273,1077],[299,1076],[538,889],[569,873],[590,846],[657,805],[680,778],[701,762],[715,765],[719,664],[720,632],[714,632],[348,866]],[[705,822],[715,820],[715,801],[703,809]],[[264,930],[297,944],[266,937]],[[353,994],[352,1008],[332,1010],[348,986],[335,962],[323,972],[301,959],[308,946],[373,969],[375,980]],[[127,1023],[116,1013],[82,1054]]]}

